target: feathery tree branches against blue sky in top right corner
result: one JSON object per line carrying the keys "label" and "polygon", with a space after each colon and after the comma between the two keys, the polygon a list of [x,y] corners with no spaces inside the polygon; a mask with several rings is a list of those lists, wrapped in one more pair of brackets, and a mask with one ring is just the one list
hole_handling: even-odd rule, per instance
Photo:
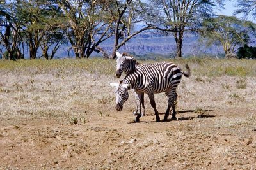
{"label": "feathery tree branches against blue sky in top right corner", "polygon": [[237,7],[239,8],[234,14],[243,13],[246,17],[252,15],[256,18],[256,1],[254,0],[237,0]]}

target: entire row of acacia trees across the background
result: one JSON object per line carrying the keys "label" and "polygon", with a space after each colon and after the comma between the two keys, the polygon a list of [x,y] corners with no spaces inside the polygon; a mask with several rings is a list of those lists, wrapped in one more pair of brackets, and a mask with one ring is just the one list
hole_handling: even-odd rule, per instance
{"label": "entire row of acacia trees across the background", "polygon": [[[93,52],[115,58],[115,51],[147,30],[172,34],[182,56],[185,32],[201,33],[219,43],[225,53],[250,43],[252,22],[236,17],[216,17],[214,9],[225,0],[4,0],[0,1],[0,53],[5,59],[53,59],[61,45],[77,58]],[[239,1],[236,13],[255,16],[255,1]],[[141,24],[136,28],[136,24]],[[102,44],[113,39],[113,48]],[[40,51],[38,55],[38,51]]]}

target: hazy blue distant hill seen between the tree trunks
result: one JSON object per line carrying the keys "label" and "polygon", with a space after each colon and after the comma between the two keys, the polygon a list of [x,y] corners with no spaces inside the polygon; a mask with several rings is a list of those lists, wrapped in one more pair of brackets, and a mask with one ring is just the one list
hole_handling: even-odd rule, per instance
{"label": "hazy blue distant hill seen between the tree trunks", "polygon": [[[122,41],[122,39],[120,39]],[[113,49],[113,38],[109,38],[100,44],[104,50],[108,53],[112,52]],[[251,46],[256,46],[254,43]],[[62,58],[67,57],[67,49],[70,46],[62,46],[61,49],[56,53],[56,57]],[[172,34],[163,35],[163,33],[156,31],[146,31],[138,34],[134,38],[127,41],[127,43],[122,46],[120,52],[128,52],[133,55],[145,56],[148,55],[160,55],[162,57],[174,57],[176,51],[175,39]],[[212,57],[224,57],[224,51],[222,46],[207,46],[199,41],[198,36],[195,34],[186,34],[184,36],[184,42],[182,46],[182,56],[212,56]],[[73,57],[74,53],[70,50],[70,57]],[[93,56],[102,56],[101,53],[93,53]]]}

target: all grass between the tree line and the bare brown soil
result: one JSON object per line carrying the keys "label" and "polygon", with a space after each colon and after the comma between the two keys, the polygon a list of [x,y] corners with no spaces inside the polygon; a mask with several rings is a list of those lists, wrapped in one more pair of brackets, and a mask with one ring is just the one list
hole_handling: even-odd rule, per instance
{"label": "all grass between the tree line and the bare brown soil", "polygon": [[[232,107],[246,104],[252,107],[254,104],[254,60],[190,58],[175,59],[171,62],[180,66],[188,63],[191,67],[192,78],[183,78],[178,91],[179,102],[185,104],[185,108],[189,109],[192,106],[195,110],[220,107],[222,104]],[[236,71],[227,72],[232,70],[231,67]],[[239,72],[242,70],[240,67],[243,67],[242,72]],[[247,71],[250,68],[250,72]],[[115,78],[115,60],[1,60],[0,74],[1,117],[8,115],[70,118],[84,114],[84,111],[87,115],[92,115],[99,114],[99,111],[106,108],[113,110],[115,105],[113,89],[109,87],[109,83],[118,82]],[[250,76],[252,78],[249,78]],[[198,87],[204,89],[198,90]],[[166,107],[166,97],[163,96],[156,94],[160,108]],[[147,97],[146,101],[149,110],[152,111]],[[241,102],[243,104],[240,104]],[[127,110],[134,110],[132,99],[125,104]],[[186,106],[187,104],[189,106]],[[102,114],[104,115],[104,111]]]}

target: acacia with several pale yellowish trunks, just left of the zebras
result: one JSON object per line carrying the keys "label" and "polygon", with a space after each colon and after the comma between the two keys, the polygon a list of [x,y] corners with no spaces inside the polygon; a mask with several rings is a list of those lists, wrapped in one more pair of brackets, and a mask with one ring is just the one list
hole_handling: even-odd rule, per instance
{"label": "acacia with several pale yellowish trunks, just left of the zebras", "polygon": [[93,51],[107,54],[100,43],[108,39],[113,30],[111,17],[102,1],[58,1],[67,19],[65,32],[77,58],[89,57]]}

